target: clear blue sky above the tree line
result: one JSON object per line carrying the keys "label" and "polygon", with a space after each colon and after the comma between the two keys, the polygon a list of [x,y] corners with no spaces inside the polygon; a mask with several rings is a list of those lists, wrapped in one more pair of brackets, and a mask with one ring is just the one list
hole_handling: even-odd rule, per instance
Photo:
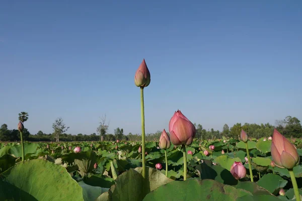
{"label": "clear blue sky above the tree line", "polygon": [[32,134],[168,131],[177,109],[205,129],[302,120],[302,1],[1,1],[0,124]]}

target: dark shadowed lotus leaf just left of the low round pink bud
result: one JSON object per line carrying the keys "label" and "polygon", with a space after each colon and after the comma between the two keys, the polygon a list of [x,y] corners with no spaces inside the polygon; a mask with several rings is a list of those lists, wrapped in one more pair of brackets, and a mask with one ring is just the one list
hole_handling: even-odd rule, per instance
{"label": "dark shadowed lotus leaf just left of the low round pink bud", "polygon": [[229,170],[213,165],[210,160],[203,160],[201,164],[195,167],[199,171],[201,179],[214,179],[223,184],[236,185],[238,180],[234,178]]}

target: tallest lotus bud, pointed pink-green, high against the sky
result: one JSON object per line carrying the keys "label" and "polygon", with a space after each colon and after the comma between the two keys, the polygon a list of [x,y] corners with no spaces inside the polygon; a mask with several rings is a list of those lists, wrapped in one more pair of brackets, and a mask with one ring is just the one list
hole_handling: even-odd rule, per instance
{"label": "tallest lotus bud, pointed pink-green, high against the sky", "polygon": [[151,76],[147,64],[143,59],[138,69],[135,72],[134,83],[136,86],[146,87],[151,81]]}

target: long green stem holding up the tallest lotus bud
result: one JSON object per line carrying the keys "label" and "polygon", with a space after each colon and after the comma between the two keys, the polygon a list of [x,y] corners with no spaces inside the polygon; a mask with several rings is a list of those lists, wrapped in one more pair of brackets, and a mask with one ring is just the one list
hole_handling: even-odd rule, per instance
{"label": "long green stem holding up the tallest lotus bud", "polygon": [[143,87],[140,87],[142,177],[146,178]]}

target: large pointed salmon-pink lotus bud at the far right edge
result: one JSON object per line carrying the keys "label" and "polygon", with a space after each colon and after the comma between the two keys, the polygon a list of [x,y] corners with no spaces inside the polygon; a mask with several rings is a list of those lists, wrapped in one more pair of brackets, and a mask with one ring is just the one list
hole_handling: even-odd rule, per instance
{"label": "large pointed salmon-pink lotus bud at the far right edge", "polygon": [[292,169],[299,164],[298,152],[289,140],[274,129],[271,155],[277,167]]}

